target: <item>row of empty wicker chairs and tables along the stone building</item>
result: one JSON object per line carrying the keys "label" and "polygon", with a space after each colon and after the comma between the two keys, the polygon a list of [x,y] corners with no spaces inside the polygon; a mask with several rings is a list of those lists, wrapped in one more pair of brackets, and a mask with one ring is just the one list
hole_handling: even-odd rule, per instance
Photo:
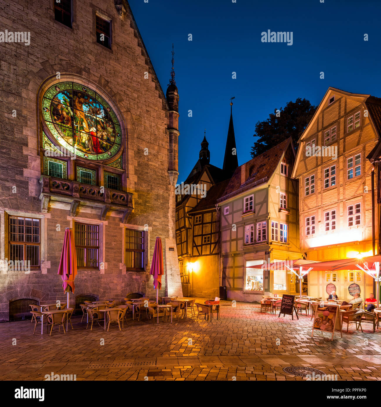
{"label": "row of empty wicker chairs and tables along the stone building", "polygon": [[[206,321],[219,318],[219,298],[207,300],[202,303],[194,298],[178,298],[177,296],[145,297],[141,293],[129,293],[123,302],[115,300],[84,301],[79,304],[77,315],[81,316],[81,324],[84,330],[102,328],[107,332],[110,329],[122,329],[128,326],[129,320],[173,323],[186,318],[203,318]],[[71,317],[75,312],[73,307],[67,308],[65,302],[52,302],[42,304],[30,304],[31,322],[33,335],[46,333],[66,334],[67,330],[74,329]]]}

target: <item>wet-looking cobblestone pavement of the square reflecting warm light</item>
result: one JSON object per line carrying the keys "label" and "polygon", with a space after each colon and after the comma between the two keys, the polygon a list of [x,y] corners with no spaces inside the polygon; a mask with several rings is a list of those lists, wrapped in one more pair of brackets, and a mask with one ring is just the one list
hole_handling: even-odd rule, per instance
{"label": "wet-looking cobblestone pavement of the square reflecting warm light", "polygon": [[[201,302],[201,299],[199,300]],[[309,366],[337,380],[381,380],[381,330],[363,330],[324,339],[311,337],[310,317],[299,320],[258,304],[222,301],[220,319],[132,321],[119,331],[90,331],[80,317],[64,335],[35,335],[30,321],[0,324],[0,380],[44,380],[46,374],[75,374],[78,380],[305,380],[283,371]],[[157,321],[157,320],[156,320]],[[103,326],[103,325],[102,325]],[[327,335],[328,336],[328,335]],[[104,344],[102,344],[104,341]]]}

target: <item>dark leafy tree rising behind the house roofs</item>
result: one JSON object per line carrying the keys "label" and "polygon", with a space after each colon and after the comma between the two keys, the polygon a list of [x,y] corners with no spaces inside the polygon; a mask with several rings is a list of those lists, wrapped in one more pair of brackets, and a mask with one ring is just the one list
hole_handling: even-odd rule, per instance
{"label": "dark leafy tree rising behind the house roofs", "polygon": [[316,106],[311,105],[307,99],[297,98],[295,102],[290,101],[279,110],[279,117],[274,110],[267,120],[256,123],[254,137],[258,137],[258,140],[251,147],[252,157],[264,153],[289,137],[292,137],[297,148],[297,141],[315,113]]}

